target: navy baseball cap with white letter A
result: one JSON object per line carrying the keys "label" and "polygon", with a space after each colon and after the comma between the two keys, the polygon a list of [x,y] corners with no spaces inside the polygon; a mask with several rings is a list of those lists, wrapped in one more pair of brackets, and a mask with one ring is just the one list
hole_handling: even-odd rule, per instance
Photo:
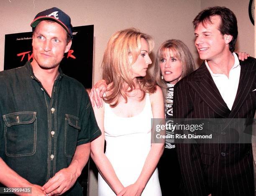
{"label": "navy baseball cap with white letter A", "polygon": [[59,23],[71,36],[72,38],[72,24],[69,15],[64,13],[59,8],[50,8],[48,10],[44,10],[36,15],[32,23],[30,24],[31,27],[35,28],[38,23],[42,20],[53,20]]}

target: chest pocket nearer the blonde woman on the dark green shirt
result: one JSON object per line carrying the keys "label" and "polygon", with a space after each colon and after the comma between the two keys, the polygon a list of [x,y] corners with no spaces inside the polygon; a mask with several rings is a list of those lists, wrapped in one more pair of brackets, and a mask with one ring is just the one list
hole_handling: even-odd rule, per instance
{"label": "chest pocket nearer the blonde woman on the dark green shirt", "polygon": [[81,129],[78,117],[65,115],[65,146],[64,152],[67,157],[73,157],[77,148],[78,132]]}

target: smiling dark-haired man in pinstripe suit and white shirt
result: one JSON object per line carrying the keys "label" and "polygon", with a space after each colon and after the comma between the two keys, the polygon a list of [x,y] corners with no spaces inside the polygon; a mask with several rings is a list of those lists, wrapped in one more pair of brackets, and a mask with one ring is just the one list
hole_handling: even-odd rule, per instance
{"label": "smiling dark-haired man in pinstripe suit and white shirt", "polygon": [[[200,12],[193,24],[195,45],[205,61],[175,85],[174,117],[252,119],[256,60],[239,61],[234,53],[236,16],[228,8],[212,7]],[[177,151],[186,195],[253,196],[250,143],[179,143]]]}

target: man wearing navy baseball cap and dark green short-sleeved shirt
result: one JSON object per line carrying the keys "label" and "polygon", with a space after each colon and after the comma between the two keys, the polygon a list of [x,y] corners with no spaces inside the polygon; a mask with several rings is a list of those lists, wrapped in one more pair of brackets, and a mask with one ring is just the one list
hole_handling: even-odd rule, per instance
{"label": "man wearing navy baseball cap and dark green short-sleeved shirt", "polygon": [[79,196],[77,178],[101,132],[84,87],[59,68],[72,44],[71,20],[50,8],[31,27],[33,61],[0,72],[0,187]]}

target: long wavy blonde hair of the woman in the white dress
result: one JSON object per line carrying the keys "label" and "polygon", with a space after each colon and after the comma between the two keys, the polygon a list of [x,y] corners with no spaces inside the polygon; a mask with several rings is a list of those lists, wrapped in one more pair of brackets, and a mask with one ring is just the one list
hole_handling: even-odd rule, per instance
{"label": "long wavy blonde hair of the woman in the white dress", "polygon": [[[103,99],[111,107],[117,106],[121,96],[127,102],[126,92],[131,92],[136,87],[131,78],[131,65],[141,53],[141,38],[147,41],[148,53],[150,53],[154,48],[153,38],[135,28],[117,31],[108,41],[101,66],[102,77],[108,84],[108,93]],[[132,63],[128,56],[132,56]],[[137,82],[143,94],[141,100],[144,99],[146,93],[155,91],[153,82],[147,80],[146,77],[138,77]]]}

